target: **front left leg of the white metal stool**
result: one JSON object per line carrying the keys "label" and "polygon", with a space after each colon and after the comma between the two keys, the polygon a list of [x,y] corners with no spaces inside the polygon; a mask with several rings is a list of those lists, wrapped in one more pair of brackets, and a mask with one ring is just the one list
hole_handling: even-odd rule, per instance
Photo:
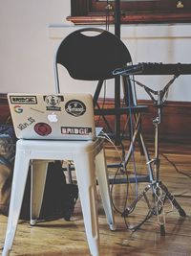
{"label": "front left leg of the white metal stool", "polygon": [[16,233],[17,223],[19,220],[29,166],[30,159],[26,151],[16,150],[11,187],[10,211],[2,256],[10,255],[12,243]]}

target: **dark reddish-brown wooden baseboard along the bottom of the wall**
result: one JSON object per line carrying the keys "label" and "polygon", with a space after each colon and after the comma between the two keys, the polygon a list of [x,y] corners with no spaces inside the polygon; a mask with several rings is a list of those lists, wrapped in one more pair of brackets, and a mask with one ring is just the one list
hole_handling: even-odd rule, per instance
{"label": "dark reddish-brown wooden baseboard along the bottom of the wall", "polygon": [[[102,100],[99,101],[102,104]],[[147,139],[153,139],[154,126],[153,119],[157,116],[157,109],[151,101],[139,100],[138,105],[147,105],[146,112],[141,114],[141,130]],[[114,107],[114,99],[106,99],[105,108]],[[0,123],[5,124],[10,115],[10,109],[6,94],[0,94]],[[171,102],[167,101],[163,106],[162,120],[159,125],[159,139],[169,142],[191,143],[191,102]],[[112,128],[115,127],[114,116],[107,116],[107,121]],[[96,116],[96,122],[99,120],[99,126],[105,128],[105,122],[102,118]],[[122,115],[120,119],[121,128],[124,127],[126,116]]]}

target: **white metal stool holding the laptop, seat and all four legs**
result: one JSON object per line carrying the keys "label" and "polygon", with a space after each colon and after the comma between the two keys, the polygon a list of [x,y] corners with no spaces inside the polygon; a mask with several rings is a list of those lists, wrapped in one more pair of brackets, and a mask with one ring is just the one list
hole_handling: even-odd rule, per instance
{"label": "white metal stool holding the laptop, seat and all four legs", "polygon": [[[95,141],[47,141],[47,140],[18,140],[14,173],[11,188],[11,204],[8,219],[3,256],[10,255],[13,239],[19,220],[25,184],[31,160],[32,161],[32,224],[39,216],[46,171],[50,160],[70,159],[74,161],[76,179],[85,230],[91,254],[99,255],[99,231],[96,212],[96,176],[99,185],[103,207],[110,229],[115,229],[113,208],[109,193],[106,173],[103,139]],[[45,161],[47,160],[47,161]],[[96,161],[95,161],[96,160]]]}

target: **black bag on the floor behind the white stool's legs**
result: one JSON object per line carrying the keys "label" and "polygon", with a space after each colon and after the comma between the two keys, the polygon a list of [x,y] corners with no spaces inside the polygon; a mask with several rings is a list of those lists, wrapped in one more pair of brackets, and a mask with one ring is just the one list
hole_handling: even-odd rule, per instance
{"label": "black bag on the floor behind the white stool's legs", "polygon": [[[30,220],[31,170],[28,175],[23,204],[20,213],[21,220]],[[64,218],[70,221],[74,213],[74,205],[78,198],[78,188],[75,184],[67,184],[60,161],[49,163],[44,197],[38,221],[52,221]]]}

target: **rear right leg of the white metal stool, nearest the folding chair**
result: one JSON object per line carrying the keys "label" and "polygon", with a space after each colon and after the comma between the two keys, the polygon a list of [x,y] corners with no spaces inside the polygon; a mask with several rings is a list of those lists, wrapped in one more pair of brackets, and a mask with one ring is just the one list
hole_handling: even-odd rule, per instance
{"label": "rear right leg of the white metal stool, nearest the folding chair", "polygon": [[105,151],[101,150],[96,155],[96,176],[98,181],[98,188],[100,191],[100,195],[103,201],[103,208],[105,214],[107,216],[107,221],[109,223],[110,229],[115,230],[115,220],[114,220],[114,212],[113,205],[110,196],[107,168],[105,163]]}

